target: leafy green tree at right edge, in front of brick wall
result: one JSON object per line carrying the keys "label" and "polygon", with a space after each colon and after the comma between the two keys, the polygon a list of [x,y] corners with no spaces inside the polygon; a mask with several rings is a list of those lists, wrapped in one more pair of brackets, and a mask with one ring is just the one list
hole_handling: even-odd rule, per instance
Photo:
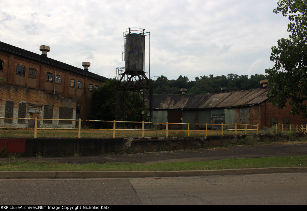
{"label": "leafy green tree at right edge, in front of brick wall", "polygon": [[269,101],[278,108],[293,106],[291,114],[307,118],[307,1],[279,1],[275,14],[288,17],[289,39],[278,40],[272,47],[270,60],[273,68],[266,69],[270,74],[269,83],[274,87],[268,93]]}

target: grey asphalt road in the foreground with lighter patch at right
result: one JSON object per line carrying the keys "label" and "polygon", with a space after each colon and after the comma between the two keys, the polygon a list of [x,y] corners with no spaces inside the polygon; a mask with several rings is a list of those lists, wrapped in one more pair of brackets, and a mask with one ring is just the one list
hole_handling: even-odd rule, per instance
{"label": "grey asphalt road in the foreground with lighter patch at right", "polygon": [[130,179],[1,179],[0,204],[306,205],[306,179],[307,172]]}

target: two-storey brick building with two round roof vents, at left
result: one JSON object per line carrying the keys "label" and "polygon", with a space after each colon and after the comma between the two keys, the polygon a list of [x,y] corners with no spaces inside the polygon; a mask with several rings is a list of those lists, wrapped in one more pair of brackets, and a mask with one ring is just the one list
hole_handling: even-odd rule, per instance
{"label": "two-storey brick building with two round roof vents, at left", "polygon": [[[39,49],[37,49],[39,50]],[[108,79],[84,69],[0,42],[0,117],[91,119],[92,95]],[[0,81],[1,82],[1,81]],[[28,127],[22,119],[0,119],[0,127]],[[44,120],[40,127],[75,127],[74,121]]]}

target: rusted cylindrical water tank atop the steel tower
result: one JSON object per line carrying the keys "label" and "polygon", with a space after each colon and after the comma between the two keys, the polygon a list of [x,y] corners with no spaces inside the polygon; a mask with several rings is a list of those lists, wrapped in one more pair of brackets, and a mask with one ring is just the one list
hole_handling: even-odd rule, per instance
{"label": "rusted cylindrical water tank atop the steel tower", "polygon": [[142,33],[126,34],[125,71],[135,75],[134,71],[144,72],[145,36]]}

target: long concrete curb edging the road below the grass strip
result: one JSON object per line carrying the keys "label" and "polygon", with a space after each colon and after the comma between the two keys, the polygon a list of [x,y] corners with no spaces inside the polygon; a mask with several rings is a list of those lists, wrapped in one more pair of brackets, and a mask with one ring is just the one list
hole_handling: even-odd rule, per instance
{"label": "long concrete curb edging the road below the grass strip", "polygon": [[254,169],[192,170],[192,171],[1,171],[0,179],[13,178],[160,178],[234,174],[272,174],[307,172],[307,167]]}

